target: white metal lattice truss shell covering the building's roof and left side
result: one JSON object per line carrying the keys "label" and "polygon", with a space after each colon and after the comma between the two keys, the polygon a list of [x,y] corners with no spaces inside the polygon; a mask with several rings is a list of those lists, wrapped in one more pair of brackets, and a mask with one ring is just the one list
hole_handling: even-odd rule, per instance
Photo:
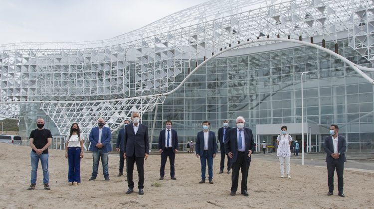
{"label": "white metal lattice truss shell covering the building's roof and left side", "polygon": [[374,0],[210,0],[107,40],[4,44],[0,116],[17,118],[19,104],[40,103],[61,134],[72,122],[87,133],[99,117],[115,130],[132,109],[162,104],[186,68],[232,44],[336,42],[341,33],[374,62]]}

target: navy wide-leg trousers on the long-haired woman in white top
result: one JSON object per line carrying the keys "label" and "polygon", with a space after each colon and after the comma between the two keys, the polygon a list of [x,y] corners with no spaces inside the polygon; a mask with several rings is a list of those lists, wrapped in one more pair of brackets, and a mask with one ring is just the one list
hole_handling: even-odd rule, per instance
{"label": "navy wide-leg trousers on the long-haired woman in white top", "polygon": [[80,147],[68,147],[67,155],[69,162],[68,182],[80,183]]}

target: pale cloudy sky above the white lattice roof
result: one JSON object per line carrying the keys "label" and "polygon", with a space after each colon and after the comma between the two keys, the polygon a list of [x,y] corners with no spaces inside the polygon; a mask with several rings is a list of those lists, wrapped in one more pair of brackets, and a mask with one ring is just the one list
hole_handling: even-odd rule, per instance
{"label": "pale cloudy sky above the white lattice roof", "polygon": [[207,0],[0,0],[0,45],[112,38]]}

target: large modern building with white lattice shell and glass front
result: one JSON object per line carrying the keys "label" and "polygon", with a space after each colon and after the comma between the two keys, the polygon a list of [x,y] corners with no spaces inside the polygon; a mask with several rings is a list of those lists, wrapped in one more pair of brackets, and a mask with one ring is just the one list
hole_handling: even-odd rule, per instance
{"label": "large modern building with white lattice shell and glass front", "polygon": [[107,40],[0,45],[0,116],[27,140],[37,117],[59,138],[137,109],[153,148],[168,119],[182,147],[243,116],[257,142],[304,129],[310,152],[335,123],[374,152],[373,63],[373,0],[210,0]]}

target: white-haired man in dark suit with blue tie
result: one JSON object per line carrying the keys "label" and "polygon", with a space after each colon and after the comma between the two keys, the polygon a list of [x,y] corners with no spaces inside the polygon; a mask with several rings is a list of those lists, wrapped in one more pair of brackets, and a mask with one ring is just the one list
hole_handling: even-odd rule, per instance
{"label": "white-haired man in dark suit with blue tie", "polygon": [[231,194],[235,195],[238,189],[239,171],[241,169],[241,194],[248,196],[247,179],[251,154],[255,150],[252,130],[244,127],[244,117],[236,118],[236,128],[231,128],[225,136],[225,151],[231,160]]}

